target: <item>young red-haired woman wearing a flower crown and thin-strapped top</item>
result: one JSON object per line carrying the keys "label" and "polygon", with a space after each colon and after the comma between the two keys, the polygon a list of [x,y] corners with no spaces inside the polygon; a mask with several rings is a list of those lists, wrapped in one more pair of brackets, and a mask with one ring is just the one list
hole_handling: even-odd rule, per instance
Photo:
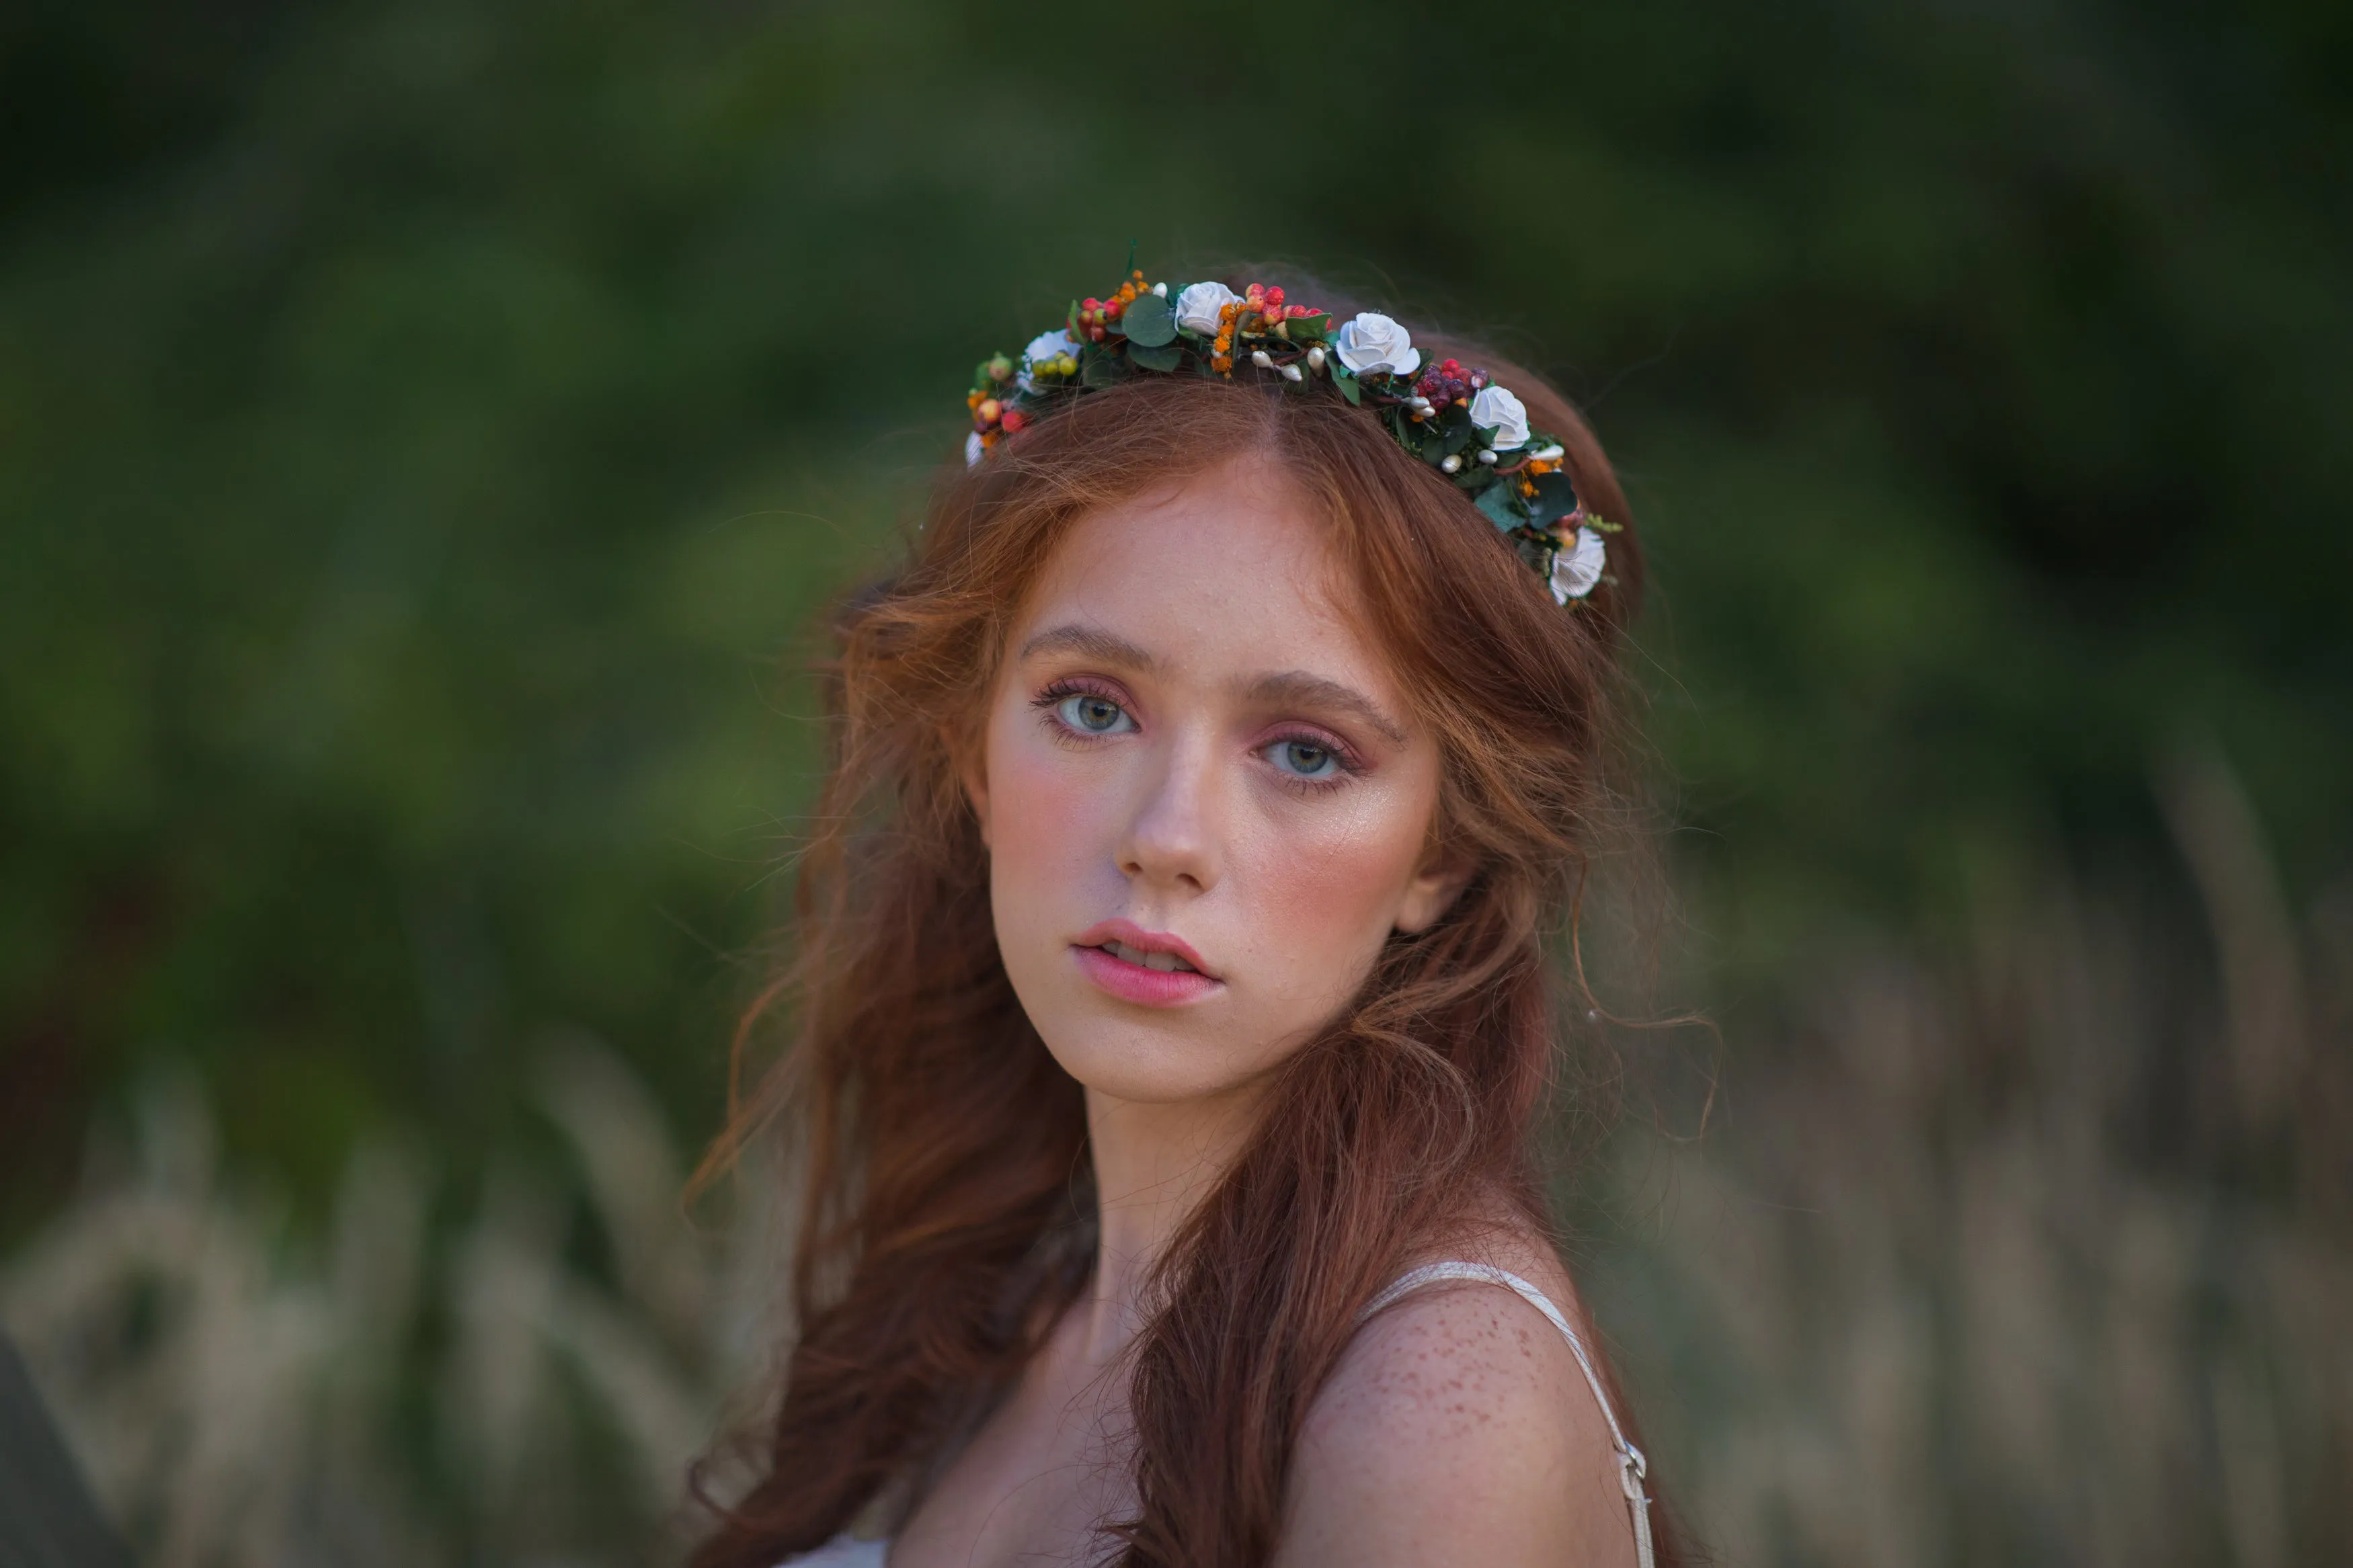
{"label": "young red-haired woman wearing a flower crown and thin-strapped top", "polygon": [[1435,353],[1136,273],[981,367],[840,623],[732,1128],[800,1328],[696,1568],[1671,1561],[1532,1150],[1638,555]]}

